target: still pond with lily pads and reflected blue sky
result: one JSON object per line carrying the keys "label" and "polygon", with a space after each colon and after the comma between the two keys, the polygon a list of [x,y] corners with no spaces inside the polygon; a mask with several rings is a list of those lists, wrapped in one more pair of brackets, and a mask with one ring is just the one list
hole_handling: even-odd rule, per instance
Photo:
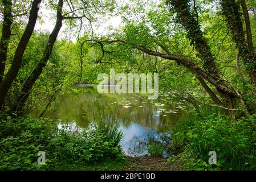
{"label": "still pond with lily pads and reflected blue sky", "polygon": [[[185,117],[186,106],[174,102],[174,93],[159,93],[157,100],[148,100],[147,94],[99,94],[95,86],[84,88],[78,97],[59,95],[44,117],[59,120],[59,127],[87,128],[104,119],[115,121],[123,131],[121,146],[126,155],[148,155],[152,142],[168,146],[170,130],[178,118]],[[170,155],[164,151],[163,156]]]}

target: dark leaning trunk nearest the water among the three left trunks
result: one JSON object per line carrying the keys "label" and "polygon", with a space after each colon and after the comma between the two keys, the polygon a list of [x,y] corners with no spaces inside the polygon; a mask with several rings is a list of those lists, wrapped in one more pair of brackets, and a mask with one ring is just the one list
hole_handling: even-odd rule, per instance
{"label": "dark leaning trunk nearest the water among the three left trunks", "polygon": [[15,102],[16,104],[11,109],[11,112],[22,110],[27,98],[30,95],[32,86],[35,84],[35,81],[41,75],[43,68],[46,66],[48,60],[50,59],[50,56],[52,53],[52,48],[54,47],[54,43],[56,42],[60,28],[62,27],[62,20],[63,20],[62,7],[63,7],[63,0],[59,0],[55,27],[54,27],[54,30],[52,30],[52,32],[48,38],[48,43],[44,49],[43,57],[39,61],[38,65],[36,65],[36,68],[34,69],[34,71],[31,72],[31,74],[27,78],[25,84],[22,86],[21,93],[19,93],[19,96]]}

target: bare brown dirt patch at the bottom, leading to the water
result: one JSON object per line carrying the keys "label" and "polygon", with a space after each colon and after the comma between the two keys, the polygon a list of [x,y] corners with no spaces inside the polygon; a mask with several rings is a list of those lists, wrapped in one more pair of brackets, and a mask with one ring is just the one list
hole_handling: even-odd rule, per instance
{"label": "bare brown dirt patch at the bottom, leading to the water", "polygon": [[127,170],[139,171],[177,171],[181,169],[181,163],[165,164],[166,159],[152,156],[128,157]]}

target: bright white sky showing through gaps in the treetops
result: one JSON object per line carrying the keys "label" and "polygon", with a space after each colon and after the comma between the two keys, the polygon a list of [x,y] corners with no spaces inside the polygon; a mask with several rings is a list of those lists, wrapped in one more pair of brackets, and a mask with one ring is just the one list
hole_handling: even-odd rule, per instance
{"label": "bright white sky showing through gaps in the treetops", "polygon": [[[159,0],[151,0],[151,1],[146,1],[146,0],[116,0],[116,8],[119,9],[120,7],[124,7],[125,5],[128,5],[130,8],[128,9],[128,14],[124,14],[127,16],[130,16],[131,19],[134,20],[140,20],[141,16],[143,15],[143,12],[137,12],[134,13],[132,9],[136,9],[136,3],[144,3],[145,8],[149,9],[153,7],[157,8],[157,5],[159,4]],[[113,13],[115,14],[115,13]],[[35,30],[40,30],[40,31],[48,31],[51,32],[55,26],[55,21],[56,21],[56,11],[50,10],[46,8],[44,3],[41,3],[40,10],[39,10],[39,16],[42,17],[42,20],[36,22]],[[92,22],[92,29],[94,31],[94,36],[99,36],[99,35],[109,35],[109,34],[115,34],[117,30],[120,30],[120,27],[124,26],[122,23],[122,18],[121,15],[100,15],[96,14],[97,17],[97,22]],[[84,25],[86,26],[86,30],[82,30],[80,33],[80,37],[83,36],[85,32],[90,31],[91,32],[91,27],[89,25],[89,21],[86,18],[83,18]],[[63,20],[63,26],[62,29],[59,32],[58,38],[61,39],[70,39],[72,42],[75,42],[77,37],[78,37],[78,30],[79,26],[74,28],[71,28],[66,32],[65,30],[68,29],[68,24],[66,23],[66,20]],[[92,34],[90,34],[92,35]]]}

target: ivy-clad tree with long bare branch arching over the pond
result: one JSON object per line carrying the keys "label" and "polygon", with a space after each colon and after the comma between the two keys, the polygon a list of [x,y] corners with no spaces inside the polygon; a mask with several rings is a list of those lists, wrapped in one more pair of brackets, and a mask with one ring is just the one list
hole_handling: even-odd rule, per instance
{"label": "ivy-clad tree with long bare branch arching over the pond", "polygon": [[[87,40],[92,41],[95,43],[124,43],[129,44],[133,48],[139,49],[147,53],[148,55],[162,57],[168,60],[177,61],[178,64],[184,65],[188,70],[194,75],[196,75],[198,81],[200,82],[201,86],[205,89],[205,91],[209,94],[210,98],[216,104],[222,108],[225,108],[227,114],[230,113],[231,110],[235,110],[234,107],[236,105],[236,100],[241,102],[243,110],[245,110],[246,114],[249,114],[247,110],[247,105],[244,98],[241,96],[241,93],[238,92],[237,89],[234,88],[233,84],[231,84],[227,79],[226,76],[220,75],[220,71],[216,65],[216,59],[214,58],[210,47],[203,36],[203,32],[200,28],[200,23],[198,22],[197,12],[192,7],[190,1],[183,0],[183,1],[167,1],[168,4],[171,5],[172,10],[176,13],[176,19],[178,23],[182,24],[185,28],[188,38],[191,42],[191,45],[197,51],[197,57],[199,57],[202,61],[203,68],[200,65],[194,63],[193,60],[190,60],[187,57],[182,55],[175,55],[169,50],[168,44],[164,42],[164,40],[168,40],[168,38],[162,38],[162,36],[152,36],[149,33],[147,36],[149,37],[150,43],[145,43],[141,38],[141,42],[138,42],[137,38],[133,38],[133,40],[125,40],[124,37],[116,40]],[[136,17],[137,18],[137,17]],[[148,23],[148,22],[147,22]],[[139,23],[140,24],[140,23]],[[137,26],[137,27],[140,27]],[[138,29],[137,29],[138,32]],[[142,31],[144,34],[147,34],[146,28]],[[131,33],[132,35],[132,33]],[[134,34],[133,34],[134,35]],[[143,45],[145,44],[145,46]],[[160,47],[159,51],[152,51],[153,47]],[[226,85],[228,84],[228,85]],[[212,90],[212,85],[218,91],[218,98],[217,93]]]}

